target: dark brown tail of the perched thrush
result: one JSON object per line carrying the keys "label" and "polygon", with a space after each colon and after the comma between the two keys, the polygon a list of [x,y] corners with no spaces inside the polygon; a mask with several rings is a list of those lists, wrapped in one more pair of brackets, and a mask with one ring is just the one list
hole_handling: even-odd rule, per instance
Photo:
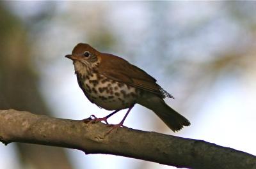
{"label": "dark brown tail of the perched thrush", "polygon": [[[172,131],[179,131],[183,126],[189,126],[188,119],[180,115],[171,107],[166,105],[163,99],[159,97],[151,98],[152,100],[146,104],[141,104],[151,110],[170,128]],[[143,101],[145,103],[145,101]]]}

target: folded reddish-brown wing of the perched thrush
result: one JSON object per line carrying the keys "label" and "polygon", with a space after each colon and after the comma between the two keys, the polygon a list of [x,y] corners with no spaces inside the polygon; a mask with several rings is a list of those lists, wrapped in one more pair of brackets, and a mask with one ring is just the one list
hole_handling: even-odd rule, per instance
{"label": "folded reddish-brown wing of the perched thrush", "polygon": [[99,73],[102,75],[116,80],[118,82],[124,82],[133,87],[138,87],[145,91],[153,92],[158,94],[162,98],[165,96],[173,98],[171,94],[164,91],[164,89],[156,84],[156,79],[148,75],[145,71],[141,70],[137,66],[130,64],[121,57],[111,55],[104,55],[99,66]]}

